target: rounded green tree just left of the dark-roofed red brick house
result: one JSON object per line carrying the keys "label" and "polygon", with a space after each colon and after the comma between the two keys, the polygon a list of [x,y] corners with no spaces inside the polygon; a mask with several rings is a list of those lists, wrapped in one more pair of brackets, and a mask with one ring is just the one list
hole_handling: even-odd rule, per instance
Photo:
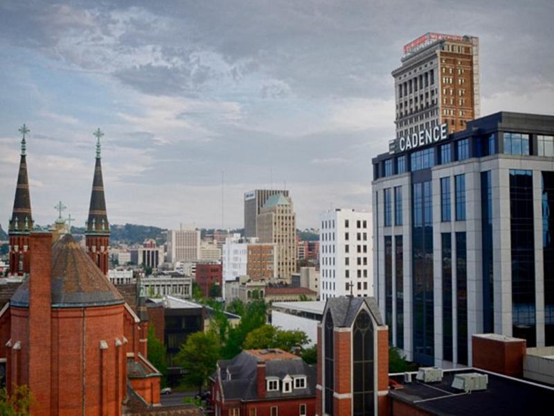
{"label": "rounded green tree just left of the dark-roofed red brick house", "polygon": [[188,336],[175,356],[175,361],[185,370],[184,384],[198,387],[198,392],[202,394],[202,386],[215,371],[218,358],[220,343],[215,333],[199,331]]}

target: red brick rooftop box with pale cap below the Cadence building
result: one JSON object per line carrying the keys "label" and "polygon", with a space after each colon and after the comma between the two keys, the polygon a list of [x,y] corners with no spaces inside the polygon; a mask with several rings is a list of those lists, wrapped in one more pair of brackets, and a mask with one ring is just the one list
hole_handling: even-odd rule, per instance
{"label": "red brick rooftop box with pale cap below the Cadence building", "polygon": [[474,367],[483,370],[522,377],[525,354],[525,340],[505,341],[472,337],[472,363]]}

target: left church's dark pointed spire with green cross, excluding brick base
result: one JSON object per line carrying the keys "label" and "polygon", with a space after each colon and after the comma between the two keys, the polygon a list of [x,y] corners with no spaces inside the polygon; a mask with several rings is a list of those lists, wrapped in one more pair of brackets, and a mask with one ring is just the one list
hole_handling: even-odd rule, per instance
{"label": "left church's dark pointed spire with green cross, excluding brick base", "polygon": [[33,229],[27,175],[27,144],[25,141],[25,135],[30,130],[24,124],[19,129],[19,132],[23,135],[23,139],[21,139],[21,159],[19,159],[19,174],[17,175],[17,187],[15,189],[12,218],[10,219],[8,232],[28,234]]}

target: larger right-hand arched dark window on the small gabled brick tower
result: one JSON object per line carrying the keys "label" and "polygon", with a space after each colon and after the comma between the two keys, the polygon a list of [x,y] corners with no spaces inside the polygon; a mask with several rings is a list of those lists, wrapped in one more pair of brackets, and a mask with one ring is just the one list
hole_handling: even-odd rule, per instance
{"label": "larger right-hand arched dark window on the small gabled brick tower", "polygon": [[354,393],[354,416],[373,415],[373,324],[369,314],[361,311],[352,328],[352,390]]}

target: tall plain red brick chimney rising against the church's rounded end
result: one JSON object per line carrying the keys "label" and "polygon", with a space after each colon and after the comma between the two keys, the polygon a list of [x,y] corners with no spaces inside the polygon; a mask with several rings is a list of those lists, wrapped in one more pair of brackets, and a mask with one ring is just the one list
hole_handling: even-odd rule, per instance
{"label": "tall plain red brick chimney rising against the church's rounded end", "polygon": [[[51,397],[52,234],[30,234],[29,388],[33,415],[49,414]],[[44,413],[46,412],[46,413]]]}

